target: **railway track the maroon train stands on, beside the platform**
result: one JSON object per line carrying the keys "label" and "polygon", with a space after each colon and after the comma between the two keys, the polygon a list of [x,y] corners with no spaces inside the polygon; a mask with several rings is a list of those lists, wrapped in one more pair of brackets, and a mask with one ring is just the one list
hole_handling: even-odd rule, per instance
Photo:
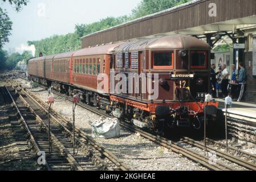
{"label": "railway track the maroon train stands on, beside the platform", "polygon": [[[54,93],[59,95],[59,96],[62,96],[62,97],[67,97],[68,100],[72,101],[72,97],[68,97],[68,96],[66,96],[64,94],[60,94],[58,92],[54,92]],[[112,117],[111,115],[105,113],[102,110],[96,109],[95,107],[92,107],[92,106],[89,106],[89,105],[86,105],[86,104],[83,104],[83,103],[80,103],[79,105],[84,107],[85,109],[88,109],[88,110],[90,110],[90,111],[92,111],[96,114],[99,114],[103,117]],[[193,151],[190,148],[186,148],[184,146],[181,146],[181,143],[185,142],[185,143],[190,144],[194,147],[198,147],[198,148],[202,149],[204,147],[204,145],[200,142],[197,142],[196,140],[193,140],[193,139],[190,139],[190,138],[182,138],[180,140],[180,142],[173,142],[172,140],[168,140],[166,138],[162,138],[162,137],[156,136],[154,134],[150,134],[147,131],[143,131],[143,130],[135,127],[135,126],[131,126],[131,125],[129,125],[129,123],[127,123],[125,121],[123,121],[123,122],[121,121],[120,125],[123,126],[126,129],[128,129],[128,130],[131,130],[131,131],[136,132],[136,133],[140,133],[141,136],[143,136],[143,137],[145,137],[149,140],[152,140],[152,142],[155,142],[157,144],[160,144],[161,146],[169,148],[170,150],[176,152],[177,154],[182,154],[186,158],[189,158],[189,159],[191,159],[191,160],[193,160],[197,163],[200,163],[202,166],[205,166],[209,169],[225,170],[225,171],[237,169],[237,168],[231,167],[230,165],[224,164],[222,162],[211,163],[210,161],[212,159],[210,157],[202,155],[198,151]],[[213,140],[211,140],[211,141],[214,142]],[[210,139],[209,139],[209,142],[210,142]],[[256,166],[255,166],[254,163],[252,163],[250,161],[247,161],[245,159],[238,158],[238,156],[236,156],[236,155],[234,156],[234,153],[233,154],[226,154],[225,152],[222,152],[221,150],[217,150],[214,147],[208,146],[208,152],[210,152],[210,151],[215,151],[218,157],[224,158],[225,160],[228,160],[231,163],[237,164],[238,166],[243,167],[243,169],[256,170]],[[233,148],[230,147],[230,151],[237,151],[237,150],[234,147]],[[246,156],[247,159],[249,159],[249,160],[251,158],[255,159],[255,156],[253,156],[251,154],[248,154],[246,152],[241,152],[240,151],[240,153],[237,153],[237,154],[241,154],[241,156],[243,156],[243,157]]]}

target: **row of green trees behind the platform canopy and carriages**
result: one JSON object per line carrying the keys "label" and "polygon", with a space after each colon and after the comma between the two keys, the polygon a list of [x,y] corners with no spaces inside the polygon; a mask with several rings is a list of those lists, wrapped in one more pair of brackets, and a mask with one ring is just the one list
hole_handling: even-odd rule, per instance
{"label": "row of green trees behind the platform canopy and carriages", "polygon": [[52,55],[55,53],[69,52],[79,49],[80,38],[82,36],[92,34],[105,28],[117,26],[129,20],[140,18],[141,16],[156,13],[170,7],[181,5],[192,0],[142,0],[141,3],[132,10],[131,15],[119,16],[117,18],[107,17],[98,22],[90,24],[76,24],[75,32],[67,35],[54,35],[50,38],[30,41],[29,46],[34,44],[36,48],[35,55],[39,56],[39,52],[43,55]]}

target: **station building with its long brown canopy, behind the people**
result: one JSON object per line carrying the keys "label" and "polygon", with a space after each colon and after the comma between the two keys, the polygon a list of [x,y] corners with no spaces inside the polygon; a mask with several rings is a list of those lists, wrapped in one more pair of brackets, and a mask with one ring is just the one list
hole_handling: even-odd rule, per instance
{"label": "station building with its long brown canopy, behind the people", "polygon": [[[81,38],[82,47],[172,34],[196,36],[212,47],[212,63],[245,64],[245,100],[256,102],[256,0],[194,0]],[[225,52],[214,51],[228,45]],[[220,62],[221,61],[221,62]]]}

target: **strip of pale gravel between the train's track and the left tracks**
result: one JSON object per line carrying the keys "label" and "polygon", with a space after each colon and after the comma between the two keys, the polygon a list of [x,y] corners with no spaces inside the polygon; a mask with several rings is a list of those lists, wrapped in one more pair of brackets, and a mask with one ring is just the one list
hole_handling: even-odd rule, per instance
{"label": "strip of pale gravel between the train's track and the left tracks", "polygon": [[[17,79],[22,85],[29,83],[22,79]],[[48,91],[42,88],[34,88],[31,91],[42,101],[46,101]],[[52,108],[71,120],[72,103],[63,97],[55,96],[55,103]],[[84,109],[76,107],[76,126],[91,136],[91,124],[99,120],[100,116]],[[131,133],[131,131],[121,129],[120,138],[100,139],[95,138],[109,151],[113,152],[118,158],[123,160],[127,166],[133,170],[142,171],[207,171],[205,167],[194,163],[182,155],[178,155],[165,147],[151,142],[140,136],[140,134]]]}

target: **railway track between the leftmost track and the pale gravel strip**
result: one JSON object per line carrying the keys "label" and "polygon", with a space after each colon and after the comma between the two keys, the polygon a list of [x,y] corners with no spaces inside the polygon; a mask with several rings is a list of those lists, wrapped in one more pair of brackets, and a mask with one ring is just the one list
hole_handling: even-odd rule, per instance
{"label": "railway track between the leftmost track and the pale gravel strip", "polygon": [[[48,106],[38,97],[36,97],[34,93],[31,93],[29,90],[22,89],[18,85],[13,87],[19,90],[19,92],[23,94],[23,96],[26,95],[26,97],[29,97],[31,102],[36,104],[41,112],[43,112],[45,115],[48,114]],[[62,130],[62,133],[64,133],[67,138],[69,138],[70,141],[73,142],[72,123],[70,121],[62,117],[62,115],[60,115],[53,109],[50,109],[50,121],[54,123],[54,125],[58,126],[58,128]],[[124,164],[119,158],[117,158],[117,156],[115,156],[114,154],[112,154],[112,152],[108,151],[106,148],[98,144],[91,137],[88,137],[88,135],[80,130],[78,127],[75,127],[75,131],[76,146],[79,148],[79,150],[81,150],[81,152],[90,156],[93,162],[97,164],[97,166],[99,166],[101,169],[115,169],[123,171],[129,170],[129,167]],[[107,163],[103,161],[103,159],[106,159]]]}

